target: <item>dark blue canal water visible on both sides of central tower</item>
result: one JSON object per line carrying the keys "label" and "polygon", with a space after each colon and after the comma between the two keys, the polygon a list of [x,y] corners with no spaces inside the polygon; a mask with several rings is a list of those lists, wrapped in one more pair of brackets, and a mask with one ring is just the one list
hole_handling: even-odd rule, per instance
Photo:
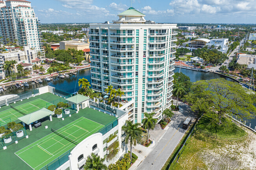
{"label": "dark blue canal water visible on both sides of central tower", "polygon": [[[179,71],[184,73],[185,75],[187,75],[190,78],[191,82],[196,82],[198,80],[218,79],[220,77],[224,78],[226,80],[235,82],[235,80],[233,80],[233,79],[230,79],[223,75],[211,73],[211,72],[205,73],[205,72],[201,72],[201,71],[182,69],[182,68],[174,69],[174,72],[179,72]],[[43,83],[41,83],[41,84],[35,84],[34,82],[31,82],[29,88],[23,87],[23,88],[17,89],[16,87],[9,87],[6,89],[6,91],[0,93],[0,96],[8,95],[8,94],[18,94],[18,93],[22,93],[24,91],[32,90],[34,88],[43,87],[43,86],[47,86],[47,85],[53,86],[60,90],[67,91],[69,93],[74,93],[79,90],[79,86],[78,86],[79,79],[85,78],[91,84],[91,69],[84,69],[77,73],[78,73],[77,76],[69,74],[70,77],[66,78],[66,79],[59,79],[59,78],[55,77],[54,80],[52,80],[50,82],[46,82],[46,80],[43,80]],[[256,126],[256,119],[247,120],[246,124],[248,126],[249,126],[249,123],[251,123],[251,127],[254,128],[254,126]]]}

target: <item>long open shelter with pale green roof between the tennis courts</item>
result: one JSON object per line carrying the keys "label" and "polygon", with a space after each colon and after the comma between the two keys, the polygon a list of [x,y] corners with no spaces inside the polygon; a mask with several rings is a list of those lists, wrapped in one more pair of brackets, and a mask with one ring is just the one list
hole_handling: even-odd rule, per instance
{"label": "long open shelter with pale green roof between the tennis courts", "polygon": [[52,111],[46,109],[46,108],[42,108],[40,110],[37,110],[33,113],[30,113],[28,115],[24,115],[22,117],[19,117],[18,119],[20,121],[22,121],[23,126],[25,126],[25,124],[28,124],[29,126],[29,130],[32,131],[32,126],[31,124],[35,121],[38,121],[46,116],[50,116],[50,121],[52,121]]}

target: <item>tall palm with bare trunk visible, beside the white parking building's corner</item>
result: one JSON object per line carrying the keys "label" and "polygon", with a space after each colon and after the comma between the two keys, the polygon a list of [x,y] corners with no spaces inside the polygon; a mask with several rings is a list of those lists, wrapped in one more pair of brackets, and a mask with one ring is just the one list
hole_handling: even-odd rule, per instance
{"label": "tall palm with bare trunk visible, beside the white parking building's corner", "polygon": [[122,126],[122,130],[126,133],[124,142],[128,144],[130,142],[130,158],[132,160],[132,145],[136,146],[141,141],[142,130],[138,126],[140,123],[133,124],[131,121],[126,121],[126,124]]}

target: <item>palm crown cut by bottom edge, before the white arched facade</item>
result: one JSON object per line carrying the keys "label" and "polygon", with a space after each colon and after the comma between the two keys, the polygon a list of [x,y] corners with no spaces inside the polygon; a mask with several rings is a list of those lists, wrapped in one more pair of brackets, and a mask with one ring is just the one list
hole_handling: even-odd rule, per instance
{"label": "palm crown cut by bottom edge, before the white arched facade", "polygon": [[108,166],[104,164],[105,159],[100,158],[94,153],[87,156],[87,160],[83,168],[85,170],[108,170]]}

